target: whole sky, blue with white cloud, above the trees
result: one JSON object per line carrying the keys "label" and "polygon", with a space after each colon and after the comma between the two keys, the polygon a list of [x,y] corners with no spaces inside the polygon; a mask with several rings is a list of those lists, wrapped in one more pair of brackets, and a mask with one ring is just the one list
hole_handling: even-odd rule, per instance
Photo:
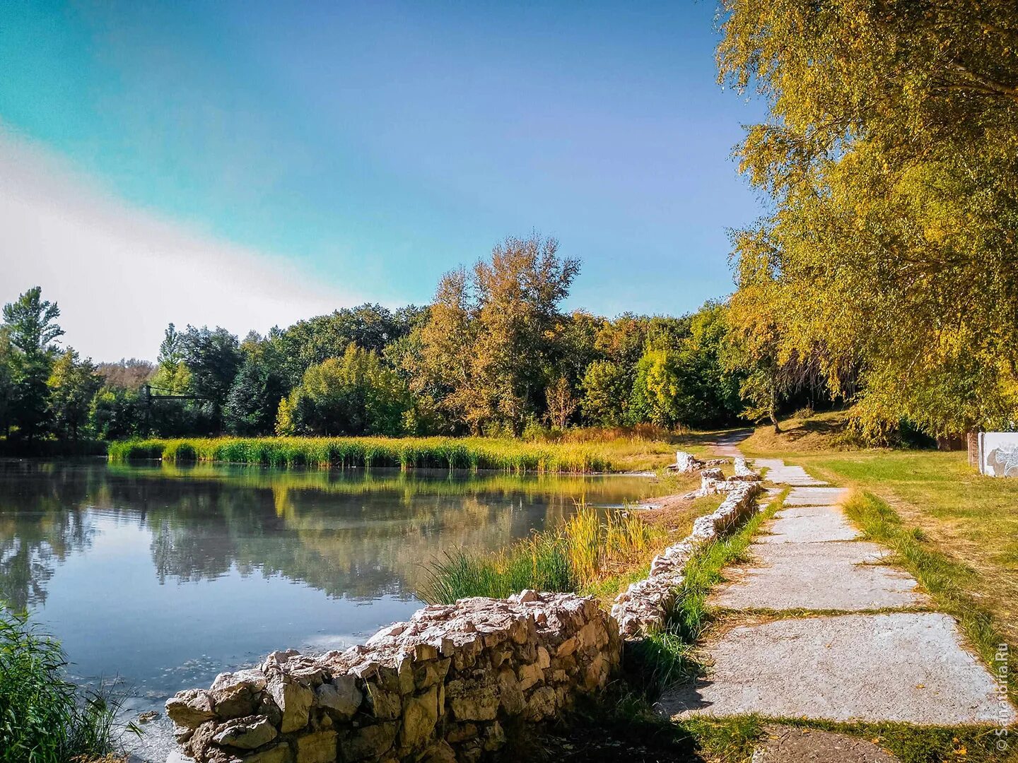
{"label": "whole sky, blue with white cloud, above the trees", "polygon": [[0,301],[154,358],[361,302],[429,302],[506,236],[554,236],[567,307],[732,291],[758,214],[713,2],[0,3]]}

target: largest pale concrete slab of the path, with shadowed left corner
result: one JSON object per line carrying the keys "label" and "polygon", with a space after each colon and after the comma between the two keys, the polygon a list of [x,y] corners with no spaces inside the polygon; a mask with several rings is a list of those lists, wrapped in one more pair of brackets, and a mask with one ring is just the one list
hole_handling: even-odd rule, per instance
{"label": "largest pale concrete slab of the path, with shadowed left corner", "polygon": [[708,645],[713,667],[665,693],[669,717],[1000,725],[1018,720],[993,676],[936,612],[843,614],[742,626]]}

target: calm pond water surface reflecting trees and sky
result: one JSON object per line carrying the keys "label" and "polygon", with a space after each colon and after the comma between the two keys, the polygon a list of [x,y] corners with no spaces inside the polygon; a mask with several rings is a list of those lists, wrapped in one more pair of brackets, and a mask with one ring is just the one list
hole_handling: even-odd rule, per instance
{"label": "calm pond water surface reflecting trees and sky", "polygon": [[[429,562],[496,549],[644,477],[0,462],[0,597],[136,714],[273,649],[362,642],[420,606]],[[163,760],[165,718],[132,743]]]}

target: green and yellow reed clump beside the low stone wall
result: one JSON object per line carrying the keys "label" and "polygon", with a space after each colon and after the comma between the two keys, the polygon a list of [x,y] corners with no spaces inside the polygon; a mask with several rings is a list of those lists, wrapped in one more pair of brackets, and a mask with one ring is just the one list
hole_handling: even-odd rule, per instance
{"label": "green and yellow reed clump beside the low stone wall", "polygon": [[579,506],[560,528],[535,532],[500,553],[457,551],[435,563],[418,593],[429,603],[450,604],[468,596],[505,598],[524,588],[589,591],[620,567],[641,560],[656,531],[634,514],[602,514]]}

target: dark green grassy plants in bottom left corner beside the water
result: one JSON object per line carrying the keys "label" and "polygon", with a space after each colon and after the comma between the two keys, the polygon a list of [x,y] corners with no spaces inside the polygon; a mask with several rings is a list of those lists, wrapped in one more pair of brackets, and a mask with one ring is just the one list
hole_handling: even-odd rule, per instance
{"label": "dark green grassy plants in bottom left corner beside the water", "polygon": [[0,763],[88,763],[119,751],[115,705],[68,683],[65,664],[56,641],[0,604]]}

